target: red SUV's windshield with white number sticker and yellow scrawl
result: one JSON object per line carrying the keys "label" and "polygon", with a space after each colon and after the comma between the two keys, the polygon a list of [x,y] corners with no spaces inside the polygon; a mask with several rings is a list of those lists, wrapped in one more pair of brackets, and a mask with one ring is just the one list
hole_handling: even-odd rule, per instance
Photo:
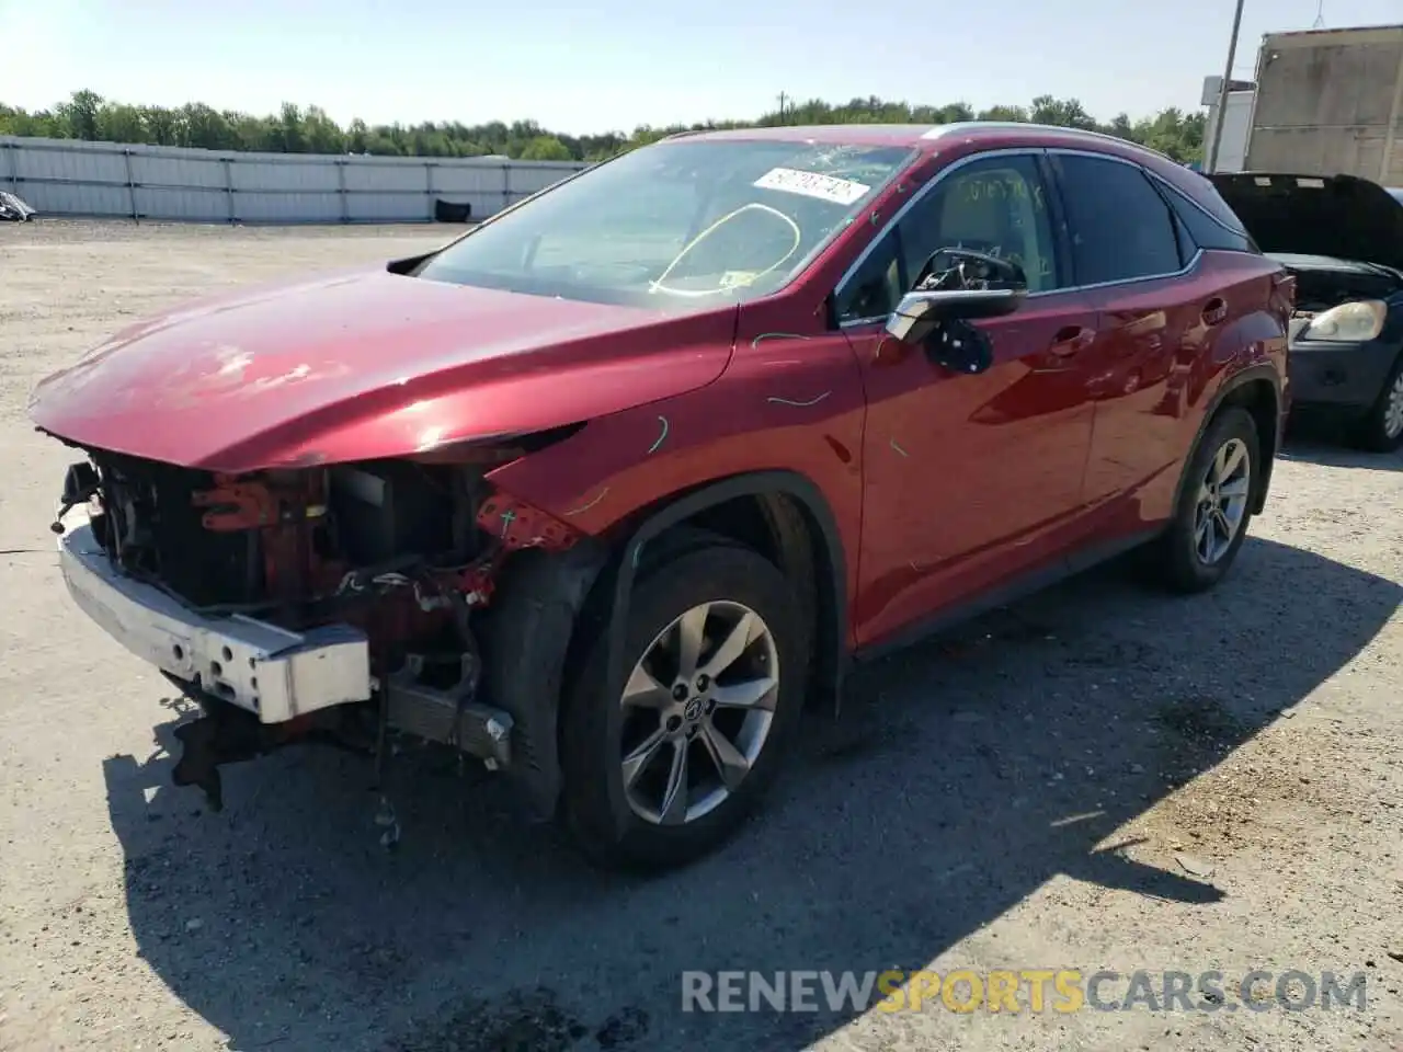
{"label": "red SUV's windshield with white number sticker and yellow scrawl", "polygon": [[418,276],[693,310],[787,285],[915,156],[777,140],[647,146],[491,220]]}

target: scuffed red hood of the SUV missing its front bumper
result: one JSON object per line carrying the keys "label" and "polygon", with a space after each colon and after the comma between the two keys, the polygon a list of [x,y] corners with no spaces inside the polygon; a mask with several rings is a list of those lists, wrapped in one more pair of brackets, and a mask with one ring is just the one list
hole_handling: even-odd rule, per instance
{"label": "scuffed red hood of the SUV missing its front bumper", "polygon": [[137,323],[45,379],[29,417],[79,446],[213,471],[403,456],[707,384],[735,318],[359,269]]}

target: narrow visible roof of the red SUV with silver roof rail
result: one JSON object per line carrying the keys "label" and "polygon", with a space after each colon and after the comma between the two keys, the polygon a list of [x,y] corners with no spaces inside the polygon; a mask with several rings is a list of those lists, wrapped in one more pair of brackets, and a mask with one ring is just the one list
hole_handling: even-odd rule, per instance
{"label": "narrow visible roof of the red SUV with silver roof rail", "polygon": [[[703,132],[682,132],[669,139],[770,139],[784,142],[840,143],[853,146],[909,146],[933,151],[950,139],[982,142],[989,146],[1059,146],[1096,143],[1139,150],[1163,157],[1127,139],[1080,128],[1034,125],[1024,121],[960,121],[948,125],[783,125],[779,128],[727,128]],[[666,140],[664,140],[666,142]]]}

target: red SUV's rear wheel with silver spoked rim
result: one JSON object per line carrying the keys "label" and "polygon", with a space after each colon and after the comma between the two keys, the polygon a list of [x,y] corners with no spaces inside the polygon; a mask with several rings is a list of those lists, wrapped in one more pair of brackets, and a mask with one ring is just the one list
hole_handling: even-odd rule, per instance
{"label": "red SUV's rear wheel with silver spoked rim", "polygon": [[[1232,481],[1223,487],[1219,498],[1223,502],[1221,506],[1228,525],[1236,522],[1236,526],[1223,544],[1226,533],[1223,519],[1215,519],[1208,513],[1207,518],[1212,519],[1209,525],[1212,543],[1205,544],[1200,518],[1204,484],[1209,468],[1215,467],[1218,454],[1225,450],[1229,459],[1235,459],[1239,452],[1246,457],[1246,476],[1239,478],[1236,473],[1230,473]],[[1246,410],[1235,405],[1223,408],[1208,425],[1188,467],[1184,468],[1184,483],[1174,518],[1150,553],[1160,585],[1173,592],[1191,595],[1207,592],[1228,574],[1247,536],[1247,526],[1251,522],[1251,494],[1260,473],[1261,445],[1257,439],[1256,421]],[[1239,488],[1244,488],[1244,492],[1239,494]],[[1240,505],[1236,504],[1239,498]],[[1233,512],[1236,519],[1232,518]]]}

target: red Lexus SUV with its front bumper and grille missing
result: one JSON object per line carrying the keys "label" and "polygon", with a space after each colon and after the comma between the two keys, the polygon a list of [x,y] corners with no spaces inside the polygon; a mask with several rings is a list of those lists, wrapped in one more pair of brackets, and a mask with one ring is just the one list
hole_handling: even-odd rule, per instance
{"label": "red Lexus SUV with its front bumper and grille missing", "polygon": [[[1292,279],[1212,185],[1031,125],[668,139],[448,247],[140,323],[31,414],[178,784],[446,742],[589,856],[714,846],[853,659],[1263,509]],[[87,520],[69,519],[86,508]]]}

